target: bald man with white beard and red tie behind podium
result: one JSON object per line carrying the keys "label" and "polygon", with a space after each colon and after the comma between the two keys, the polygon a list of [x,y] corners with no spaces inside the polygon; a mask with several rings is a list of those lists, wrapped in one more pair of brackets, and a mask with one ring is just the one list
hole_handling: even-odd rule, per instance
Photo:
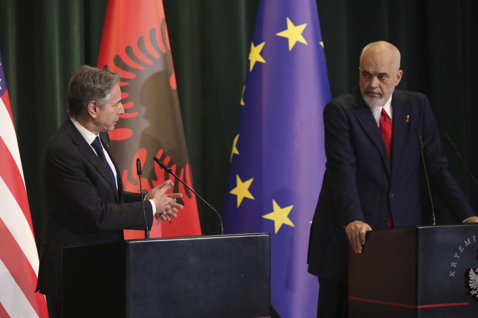
{"label": "bald man with white beard and red tie behind podium", "polygon": [[319,278],[317,317],[347,317],[349,243],[361,253],[366,231],[431,223],[420,204],[417,133],[435,193],[457,221],[478,221],[448,170],[428,98],[395,89],[402,75],[398,49],[370,43],[359,85],[324,109],[327,163],[308,257]]}

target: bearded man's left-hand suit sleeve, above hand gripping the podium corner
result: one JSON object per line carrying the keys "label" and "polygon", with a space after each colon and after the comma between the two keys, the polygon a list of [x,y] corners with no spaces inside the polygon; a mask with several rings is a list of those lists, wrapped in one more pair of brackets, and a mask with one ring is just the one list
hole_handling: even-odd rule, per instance
{"label": "bearded man's left-hand suit sleeve, above hand gripping the podium corner", "polygon": [[349,119],[341,105],[328,103],[324,109],[326,178],[332,187],[334,205],[342,225],[364,221],[357,189],[356,157]]}

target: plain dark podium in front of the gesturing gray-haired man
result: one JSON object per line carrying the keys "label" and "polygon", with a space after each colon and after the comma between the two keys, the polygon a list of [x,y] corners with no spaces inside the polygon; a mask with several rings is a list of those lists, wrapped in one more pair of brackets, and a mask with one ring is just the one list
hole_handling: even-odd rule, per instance
{"label": "plain dark podium in front of the gesturing gray-haired man", "polygon": [[268,234],[63,249],[63,317],[269,317]]}

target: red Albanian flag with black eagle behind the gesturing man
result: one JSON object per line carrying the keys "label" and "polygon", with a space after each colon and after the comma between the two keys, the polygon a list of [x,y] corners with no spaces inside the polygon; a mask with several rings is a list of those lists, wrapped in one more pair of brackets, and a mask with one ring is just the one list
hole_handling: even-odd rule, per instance
{"label": "red Albanian flag with black eagle behind the gesturing man", "polygon": [[[143,189],[170,178],[153,157],[193,187],[162,0],[108,1],[98,58],[98,67],[105,66],[121,74],[124,114],[109,134],[124,190],[139,192],[136,158]],[[151,238],[201,235],[196,196],[174,176],[171,180],[173,191],[183,194],[178,202],[184,209],[170,224],[155,222]]]}

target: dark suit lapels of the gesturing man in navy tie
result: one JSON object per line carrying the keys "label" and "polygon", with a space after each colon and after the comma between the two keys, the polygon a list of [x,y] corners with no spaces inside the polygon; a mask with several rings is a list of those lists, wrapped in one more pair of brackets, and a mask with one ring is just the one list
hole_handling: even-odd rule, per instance
{"label": "dark suit lapels of the gesturing man in navy tie", "polygon": [[[85,156],[85,158],[88,159],[88,161],[90,161],[91,164],[93,164],[93,166],[98,170],[98,172],[108,182],[112,191],[115,193],[115,198],[116,198],[117,202],[119,203],[118,189],[116,188],[116,184],[113,183],[113,180],[110,176],[110,173],[107,171],[103,162],[101,162],[101,160],[96,155],[95,151],[91,148],[90,145],[88,145],[85,138],[83,138],[83,136],[80,134],[78,129],[76,129],[75,125],[73,125],[73,122],[70,119],[67,119],[64,127],[65,127],[65,130],[67,131],[67,133],[70,135],[73,142],[78,146],[78,149],[83,154],[83,156]],[[102,143],[103,143],[103,139],[102,139]],[[105,144],[103,144],[103,145],[105,145]],[[105,149],[107,149],[107,148],[108,147],[105,147]],[[110,158],[112,159],[112,156],[109,153],[108,149],[107,149],[107,152],[110,155]],[[113,159],[112,159],[112,161],[113,161]],[[117,169],[117,173],[118,173],[118,169]],[[119,186],[119,184],[118,184],[118,186]]]}

